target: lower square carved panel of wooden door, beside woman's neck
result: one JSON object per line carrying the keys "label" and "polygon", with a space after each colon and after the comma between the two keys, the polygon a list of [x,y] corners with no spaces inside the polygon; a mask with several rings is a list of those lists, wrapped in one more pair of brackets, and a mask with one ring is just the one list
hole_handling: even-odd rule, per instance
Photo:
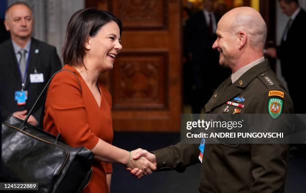
{"label": "lower square carved panel of wooden door, beside woman's neck", "polygon": [[116,59],[112,74],[113,110],[166,107],[165,53],[128,53]]}

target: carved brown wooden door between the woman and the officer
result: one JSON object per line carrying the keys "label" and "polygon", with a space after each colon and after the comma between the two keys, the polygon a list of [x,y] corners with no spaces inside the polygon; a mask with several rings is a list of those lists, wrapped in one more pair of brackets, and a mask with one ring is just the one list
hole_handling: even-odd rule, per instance
{"label": "carved brown wooden door between the woman and the officer", "polygon": [[180,0],[86,0],[123,24],[123,49],[103,74],[115,131],[179,131]]}

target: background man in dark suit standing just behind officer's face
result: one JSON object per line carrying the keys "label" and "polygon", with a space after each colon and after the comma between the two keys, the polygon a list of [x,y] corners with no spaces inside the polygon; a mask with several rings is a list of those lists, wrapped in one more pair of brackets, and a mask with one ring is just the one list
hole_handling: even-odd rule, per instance
{"label": "background man in dark suit standing just behind officer's face", "polygon": [[192,69],[192,113],[199,114],[213,89],[223,80],[222,68],[217,64],[217,51],[211,48],[215,40],[217,18],[213,13],[214,0],[203,0],[200,10],[186,22],[185,40]]}

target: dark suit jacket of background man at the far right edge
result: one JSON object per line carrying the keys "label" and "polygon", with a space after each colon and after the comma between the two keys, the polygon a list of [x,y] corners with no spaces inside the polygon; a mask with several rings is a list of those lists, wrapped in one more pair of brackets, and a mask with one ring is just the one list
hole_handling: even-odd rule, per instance
{"label": "dark suit jacket of background man at the far right edge", "polygon": [[292,98],[295,113],[306,113],[306,105],[300,94],[300,81],[306,71],[306,12],[301,9],[293,20],[286,41],[282,41],[277,48],[277,57],[281,62],[282,75],[288,83],[288,90]]}

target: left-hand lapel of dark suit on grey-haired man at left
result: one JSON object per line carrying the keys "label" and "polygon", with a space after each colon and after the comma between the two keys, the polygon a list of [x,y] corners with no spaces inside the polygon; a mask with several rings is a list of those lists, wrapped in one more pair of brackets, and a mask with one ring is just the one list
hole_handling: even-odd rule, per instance
{"label": "left-hand lapel of dark suit on grey-haired man at left", "polygon": [[7,61],[9,62],[9,66],[12,68],[14,75],[16,77],[16,79],[20,82],[20,86],[21,86],[21,77],[20,77],[20,72],[19,72],[19,66],[18,66],[18,62],[17,62],[17,58],[15,56],[15,51],[14,48],[12,46],[11,43],[11,39],[6,41],[6,49],[3,50],[4,51],[4,55],[7,57]]}

